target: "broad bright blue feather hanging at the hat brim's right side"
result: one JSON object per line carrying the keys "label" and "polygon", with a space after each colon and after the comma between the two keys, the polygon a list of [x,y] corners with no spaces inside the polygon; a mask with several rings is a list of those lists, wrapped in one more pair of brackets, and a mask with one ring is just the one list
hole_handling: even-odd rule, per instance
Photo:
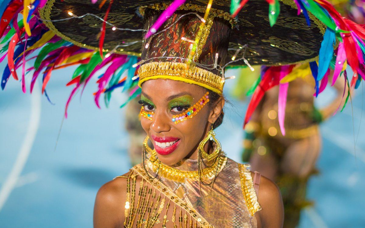
{"label": "broad bright blue feather hanging at the hat brim's right side", "polygon": [[321,80],[326,74],[328,67],[330,66],[331,59],[333,57],[333,44],[336,41],[336,35],[330,28],[324,32],[323,41],[319,49],[318,60],[318,77],[317,81]]}

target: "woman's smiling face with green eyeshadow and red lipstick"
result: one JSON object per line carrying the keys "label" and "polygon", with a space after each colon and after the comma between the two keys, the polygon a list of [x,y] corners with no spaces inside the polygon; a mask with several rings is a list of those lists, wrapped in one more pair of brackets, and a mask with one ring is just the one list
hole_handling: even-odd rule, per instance
{"label": "woman's smiling face with green eyeshadow and red lipstick", "polygon": [[197,103],[205,92],[198,85],[162,78],[142,84],[141,103],[145,111],[154,114],[152,120],[141,117],[141,124],[162,163],[174,165],[183,158],[197,157],[197,147],[216,119],[213,109],[205,105],[178,124],[172,119]]}

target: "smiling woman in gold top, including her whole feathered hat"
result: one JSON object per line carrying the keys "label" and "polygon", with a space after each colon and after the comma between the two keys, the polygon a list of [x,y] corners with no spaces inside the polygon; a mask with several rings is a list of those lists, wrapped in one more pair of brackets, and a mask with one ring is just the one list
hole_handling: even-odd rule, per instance
{"label": "smiling woman in gold top, including her whole feathered hat", "polygon": [[[65,114],[76,92],[104,67],[95,93],[98,107],[101,94],[108,105],[111,92],[121,86],[132,89],[130,100],[141,93],[141,124],[147,133],[143,162],[100,188],[94,226],[280,228],[283,205],[277,186],[251,173],[249,165],[227,158],[215,137],[223,120],[224,70],[228,65],[274,66],[251,89],[245,122],[264,92],[279,85],[278,117],[284,123],[287,82],[300,77],[288,65],[310,62],[318,95],[329,69],[334,68],[336,81],[349,64],[354,75],[349,82],[344,74],[347,85],[357,88],[365,79],[364,28],[326,0],[96,2],[0,4],[1,43],[7,42],[0,61],[8,57],[2,89],[10,76],[20,78],[16,70],[22,66],[23,92],[26,73],[34,69],[30,90],[42,78],[47,96],[53,70],[80,65],[67,84],[74,88]],[[20,12],[22,20],[16,23]],[[32,53],[37,58],[26,70]]]}

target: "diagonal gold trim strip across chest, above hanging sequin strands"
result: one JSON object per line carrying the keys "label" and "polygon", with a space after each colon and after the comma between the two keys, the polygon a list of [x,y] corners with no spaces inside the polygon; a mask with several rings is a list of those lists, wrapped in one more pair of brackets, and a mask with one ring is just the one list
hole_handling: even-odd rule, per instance
{"label": "diagonal gold trim strip across chest, above hanging sequin strands", "polygon": [[158,189],[161,193],[163,193],[166,197],[170,198],[175,204],[181,206],[186,210],[187,213],[191,217],[193,217],[197,223],[200,224],[202,228],[211,228],[212,225],[208,223],[207,220],[204,219],[203,216],[199,214],[191,205],[187,204],[181,198],[179,198],[174,192],[172,192],[168,187],[166,187],[161,181],[157,179],[151,179],[148,174],[146,174],[145,170],[139,165],[136,165],[132,168],[138,175],[140,175],[143,179],[149,182],[152,186]]}

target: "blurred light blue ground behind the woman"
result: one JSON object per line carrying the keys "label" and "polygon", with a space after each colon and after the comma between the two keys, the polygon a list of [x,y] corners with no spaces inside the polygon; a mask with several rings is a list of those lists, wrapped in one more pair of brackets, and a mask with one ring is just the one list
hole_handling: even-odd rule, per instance
{"label": "blurred light blue ground behind the woman", "polygon": [[[131,167],[129,138],[123,128],[126,110],[119,109],[126,95],[115,92],[110,108],[98,109],[93,103],[96,85],[92,81],[81,101],[80,94],[73,99],[62,124],[72,90],[65,84],[72,72],[53,73],[47,91],[55,105],[40,94],[40,84],[32,95],[28,91],[23,94],[20,82],[13,78],[0,93],[0,227],[92,227],[97,190]],[[29,81],[27,76],[27,89]],[[234,84],[235,80],[227,81],[225,91]],[[365,227],[362,90],[360,86],[352,105],[321,126],[321,174],[308,185],[308,199],[316,203],[303,210],[300,228]],[[330,91],[320,96],[318,105],[332,95]],[[218,128],[218,139],[228,156],[240,161],[247,103],[226,96],[231,104]]]}

